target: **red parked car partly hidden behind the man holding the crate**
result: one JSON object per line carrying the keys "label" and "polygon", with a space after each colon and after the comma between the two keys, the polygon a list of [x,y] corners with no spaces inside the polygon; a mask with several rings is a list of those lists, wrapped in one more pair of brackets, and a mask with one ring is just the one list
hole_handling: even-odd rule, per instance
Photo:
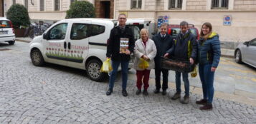
{"label": "red parked car partly hidden behind the man holding the crate", "polygon": [[[179,31],[181,31],[179,24],[170,24],[167,27],[167,30],[168,34],[170,34],[172,38],[176,38]],[[196,36],[196,39],[199,40],[199,31],[196,29],[196,27],[194,27],[193,24],[189,24],[189,31],[191,31],[191,33]]]}

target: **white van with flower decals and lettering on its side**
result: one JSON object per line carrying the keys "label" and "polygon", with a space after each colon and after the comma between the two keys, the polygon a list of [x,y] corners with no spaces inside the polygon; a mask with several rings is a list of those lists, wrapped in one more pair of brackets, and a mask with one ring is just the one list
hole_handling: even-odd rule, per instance
{"label": "white van with flower decals and lettering on its side", "polygon": [[[128,21],[131,22],[131,21]],[[136,21],[134,21],[136,23]],[[105,61],[110,30],[117,24],[113,19],[65,19],[53,24],[42,36],[29,43],[30,57],[34,66],[44,62],[86,70],[93,81],[103,81],[107,73],[100,67]],[[138,23],[137,23],[138,24]],[[135,39],[140,28],[128,24]],[[144,27],[143,27],[144,28]],[[133,61],[129,67],[131,68]]]}

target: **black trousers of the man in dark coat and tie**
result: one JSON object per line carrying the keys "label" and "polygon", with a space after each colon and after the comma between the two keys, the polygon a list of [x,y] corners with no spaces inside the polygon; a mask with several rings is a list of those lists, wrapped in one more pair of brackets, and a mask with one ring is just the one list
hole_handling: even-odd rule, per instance
{"label": "black trousers of the man in dark coat and tie", "polygon": [[163,86],[162,89],[166,90],[168,88],[168,75],[169,70],[166,69],[155,69],[155,76],[156,76],[156,89],[161,88],[161,73],[163,73]]}

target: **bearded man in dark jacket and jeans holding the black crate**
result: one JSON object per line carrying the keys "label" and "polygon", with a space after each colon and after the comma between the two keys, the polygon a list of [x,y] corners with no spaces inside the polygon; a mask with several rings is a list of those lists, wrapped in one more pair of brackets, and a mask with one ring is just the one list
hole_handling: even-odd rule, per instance
{"label": "bearded man in dark jacket and jeans holding the black crate", "polygon": [[[191,64],[194,64],[197,55],[197,43],[196,36],[191,33],[189,29],[189,24],[186,21],[182,21],[180,24],[181,31],[176,36],[174,40],[174,46],[167,51],[165,57],[174,56],[179,60],[190,61]],[[176,82],[176,93],[171,98],[176,100],[181,98],[181,72],[175,72],[175,82]],[[181,103],[189,103],[189,73],[182,73],[182,79],[185,86],[185,95],[184,100],[181,100]]]}

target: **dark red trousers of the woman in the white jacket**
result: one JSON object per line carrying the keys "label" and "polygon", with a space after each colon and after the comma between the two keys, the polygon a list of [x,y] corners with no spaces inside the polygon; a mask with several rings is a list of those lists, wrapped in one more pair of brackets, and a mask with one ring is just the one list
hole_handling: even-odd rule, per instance
{"label": "dark red trousers of the woman in the white jacket", "polygon": [[[150,70],[136,71],[137,75],[137,88],[141,90],[142,82],[144,84],[144,90],[148,89],[148,80],[149,80]],[[143,80],[142,80],[143,78]]]}

